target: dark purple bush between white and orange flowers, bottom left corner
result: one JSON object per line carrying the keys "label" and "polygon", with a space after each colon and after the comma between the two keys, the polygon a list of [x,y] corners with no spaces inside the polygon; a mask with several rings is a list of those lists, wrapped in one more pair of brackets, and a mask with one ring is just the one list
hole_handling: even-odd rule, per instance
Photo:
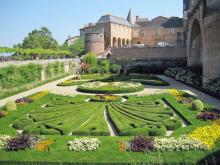
{"label": "dark purple bush between white and orange flowers, bottom left corner", "polygon": [[37,142],[37,139],[29,134],[22,134],[18,135],[15,138],[10,139],[5,149],[7,151],[19,151],[19,150],[25,150],[28,148],[31,148],[35,143]]}

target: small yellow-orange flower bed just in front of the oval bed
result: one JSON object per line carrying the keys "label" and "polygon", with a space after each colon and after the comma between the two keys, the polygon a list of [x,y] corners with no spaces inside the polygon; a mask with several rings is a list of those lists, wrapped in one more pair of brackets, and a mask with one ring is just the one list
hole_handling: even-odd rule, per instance
{"label": "small yellow-orange flower bed just in front of the oval bed", "polygon": [[96,95],[92,96],[90,99],[91,102],[121,102],[121,96],[115,95]]}

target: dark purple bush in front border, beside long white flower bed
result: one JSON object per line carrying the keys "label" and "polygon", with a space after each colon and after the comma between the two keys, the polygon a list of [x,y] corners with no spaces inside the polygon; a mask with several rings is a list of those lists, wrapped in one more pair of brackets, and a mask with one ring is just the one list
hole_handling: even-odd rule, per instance
{"label": "dark purple bush in front border, beside long white flower bed", "polygon": [[154,139],[151,137],[137,136],[130,141],[128,150],[133,152],[148,152],[154,149]]}

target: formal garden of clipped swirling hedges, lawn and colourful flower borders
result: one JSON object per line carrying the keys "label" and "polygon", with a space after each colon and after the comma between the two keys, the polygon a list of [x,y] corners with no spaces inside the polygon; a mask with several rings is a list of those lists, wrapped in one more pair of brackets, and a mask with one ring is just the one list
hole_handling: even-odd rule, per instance
{"label": "formal garden of clipped swirling hedges, lawn and colourful flower borders", "polygon": [[41,91],[1,108],[2,164],[218,161],[209,155],[220,149],[219,110],[176,89],[138,94],[169,86],[155,75],[86,71],[57,85],[82,94]]}

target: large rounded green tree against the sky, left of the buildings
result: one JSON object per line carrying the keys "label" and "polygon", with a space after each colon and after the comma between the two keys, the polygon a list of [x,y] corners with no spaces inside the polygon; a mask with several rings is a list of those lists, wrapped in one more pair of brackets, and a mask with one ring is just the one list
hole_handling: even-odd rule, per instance
{"label": "large rounded green tree against the sky, left of the buildings", "polygon": [[30,48],[30,49],[57,49],[58,43],[52,37],[52,33],[48,28],[42,27],[40,30],[33,30],[24,39],[22,44],[18,44],[15,47]]}

